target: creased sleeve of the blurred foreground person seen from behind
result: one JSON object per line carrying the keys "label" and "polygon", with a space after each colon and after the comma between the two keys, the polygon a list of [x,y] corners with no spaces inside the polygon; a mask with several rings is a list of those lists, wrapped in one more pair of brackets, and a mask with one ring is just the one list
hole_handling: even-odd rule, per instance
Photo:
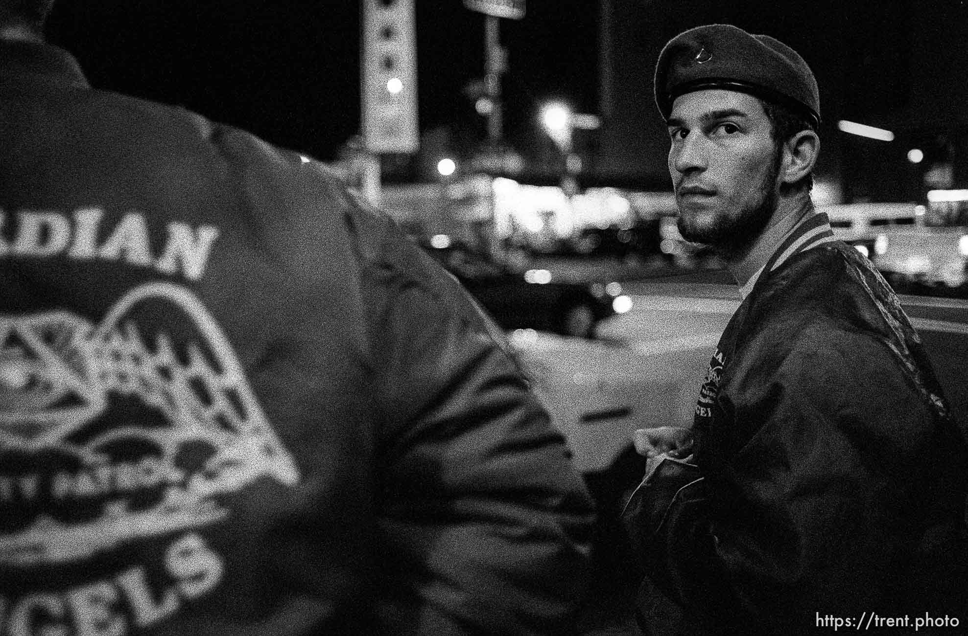
{"label": "creased sleeve of the blurred foreground person seen from behind", "polygon": [[387,413],[378,441],[388,633],[572,628],[592,507],[503,335],[385,228],[364,272]]}

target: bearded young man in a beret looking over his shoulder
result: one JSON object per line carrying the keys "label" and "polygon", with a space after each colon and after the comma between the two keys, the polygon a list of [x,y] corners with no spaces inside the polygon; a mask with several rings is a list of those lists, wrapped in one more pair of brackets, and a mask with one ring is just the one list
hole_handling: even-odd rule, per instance
{"label": "bearded young man in a beret looking over his shoulder", "polygon": [[719,252],[743,300],[693,429],[637,433],[644,628],[968,621],[964,437],[897,297],[810,202],[812,72],[783,43],[714,24],[667,43],[655,97],[681,234]]}

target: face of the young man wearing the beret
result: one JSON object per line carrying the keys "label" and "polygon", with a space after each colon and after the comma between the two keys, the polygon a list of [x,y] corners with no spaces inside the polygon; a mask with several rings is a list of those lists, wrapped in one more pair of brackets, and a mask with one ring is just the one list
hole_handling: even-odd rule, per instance
{"label": "face of the young man wearing the beret", "polygon": [[673,102],[668,127],[682,238],[726,249],[754,240],[778,191],[779,153],[763,104],[735,91],[686,93]]}

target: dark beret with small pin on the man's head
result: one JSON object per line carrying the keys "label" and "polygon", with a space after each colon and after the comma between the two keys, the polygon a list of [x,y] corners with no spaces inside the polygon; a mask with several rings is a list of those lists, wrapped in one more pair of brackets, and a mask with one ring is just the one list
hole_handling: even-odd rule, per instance
{"label": "dark beret with small pin on the man's head", "polygon": [[820,124],[820,91],[803,58],[770,36],[732,24],[708,24],[669,41],[655,65],[655,103],[669,118],[679,96],[706,89],[741,91],[802,113]]}

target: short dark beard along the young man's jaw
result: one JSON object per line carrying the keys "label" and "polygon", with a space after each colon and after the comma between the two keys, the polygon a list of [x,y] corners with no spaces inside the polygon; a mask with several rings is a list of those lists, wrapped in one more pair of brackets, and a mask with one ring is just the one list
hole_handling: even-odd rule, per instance
{"label": "short dark beard along the young man's jaw", "polygon": [[727,256],[741,253],[746,246],[756,240],[766,229],[773,213],[776,212],[778,198],[776,182],[780,174],[782,152],[776,149],[770,171],[764,175],[757,186],[758,200],[740,211],[736,217],[720,216],[711,227],[686,228],[679,217],[677,223],[682,238],[689,243],[711,246],[716,252]]}

